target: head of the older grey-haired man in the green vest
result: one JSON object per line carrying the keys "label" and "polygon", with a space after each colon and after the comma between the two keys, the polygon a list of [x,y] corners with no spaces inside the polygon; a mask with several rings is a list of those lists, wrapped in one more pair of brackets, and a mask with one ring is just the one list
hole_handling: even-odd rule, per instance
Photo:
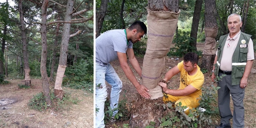
{"label": "head of the older grey-haired man in the green vest", "polygon": [[228,30],[230,34],[235,35],[240,31],[242,22],[240,22],[239,16],[234,15],[228,18]]}

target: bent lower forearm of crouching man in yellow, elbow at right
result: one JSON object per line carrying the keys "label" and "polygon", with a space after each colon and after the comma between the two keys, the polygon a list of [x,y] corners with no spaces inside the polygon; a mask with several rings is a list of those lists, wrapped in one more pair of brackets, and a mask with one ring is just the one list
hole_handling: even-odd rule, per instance
{"label": "bent lower forearm of crouching man in yellow, elbow at right", "polygon": [[178,89],[178,90],[168,89],[166,83],[163,83],[163,82],[159,82],[158,85],[163,88],[163,91],[165,93],[173,96],[186,96],[191,93],[194,93],[197,90],[192,85],[186,86],[184,89]]}

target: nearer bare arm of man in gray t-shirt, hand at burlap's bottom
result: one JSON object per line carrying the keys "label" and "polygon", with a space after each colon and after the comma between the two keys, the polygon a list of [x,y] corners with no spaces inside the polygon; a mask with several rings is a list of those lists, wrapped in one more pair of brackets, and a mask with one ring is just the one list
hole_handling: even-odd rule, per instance
{"label": "nearer bare arm of man in gray t-shirt, hand at burlap's bottom", "polygon": [[135,88],[138,91],[138,93],[140,95],[142,95],[142,97],[150,98],[150,95],[148,93],[149,90],[145,86],[140,85],[140,83],[138,83],[138,81],[135,78],[133,72],[131,71],[131,68],[129,67],[129,65],[127,63],[126,54],[125,53],[121,53],[121,52],[117,52],[117,55],[118,55],[118,59],[119,59],[121,68],[125,72],[125,75],[127,76],[127,78],[135,86]]}

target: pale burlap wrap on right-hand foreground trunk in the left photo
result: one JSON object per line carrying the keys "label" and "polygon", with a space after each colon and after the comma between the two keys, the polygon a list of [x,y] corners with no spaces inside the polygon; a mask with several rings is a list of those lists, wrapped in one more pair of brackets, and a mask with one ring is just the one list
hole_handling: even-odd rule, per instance
{"label": "pale burlap wrap on right-hand foreground trunk in the left photo", "polygon": [[62,90],[61,84],[62,84],[62,80],[63,80],[63,77],[64,77],[66,67],[67,67],[66,65],[59,65],[58,66],[54,89]]}

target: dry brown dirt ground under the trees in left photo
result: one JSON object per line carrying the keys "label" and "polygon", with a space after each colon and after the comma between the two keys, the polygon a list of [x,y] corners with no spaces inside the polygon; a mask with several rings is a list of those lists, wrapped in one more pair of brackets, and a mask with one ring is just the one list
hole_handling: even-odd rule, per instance
{"label": "dry brown dirt ground under the trees in left photo", "polygon": [[28,102],[42,92],[41,80],[31,80],[33,86],[29,89],[18,87],[24,85],[24,80],[8,81],[9,84],[0,85],[0,128],[93,128],[93,93],[64,87],[64,92],[80,102],[61,112],[39,112],[29,109]]}

